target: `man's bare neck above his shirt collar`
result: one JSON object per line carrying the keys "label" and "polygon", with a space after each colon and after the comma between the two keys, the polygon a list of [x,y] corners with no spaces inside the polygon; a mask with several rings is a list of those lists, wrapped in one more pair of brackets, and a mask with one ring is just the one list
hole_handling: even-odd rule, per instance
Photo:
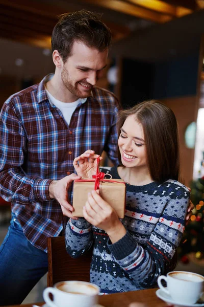
{"label": "man's bare neck above his shirt collar", "polygon": [[46,89],[53,97],[62,102],[74,102],[79,98],[66,89],[61,78],[57,77],[56,74],[46,83]]}

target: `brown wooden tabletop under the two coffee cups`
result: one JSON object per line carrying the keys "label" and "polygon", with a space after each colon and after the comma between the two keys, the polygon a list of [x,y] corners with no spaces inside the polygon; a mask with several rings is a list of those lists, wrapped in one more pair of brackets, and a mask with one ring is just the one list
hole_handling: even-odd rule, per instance
{"label": "brown wooden tabletop under the two coffee cups", "polygon": [[[130,291],[99,296],[98,303],[104,307],[128,307],[132,302],[142,302],[147,307],[164,307],[166,303],[156,295],[157,289]],[[41,306],[43,303],[36,303]],[[23,304],[21,307],[32,307],[33,304]],[[16,307],[17,305],[7,306]]]}

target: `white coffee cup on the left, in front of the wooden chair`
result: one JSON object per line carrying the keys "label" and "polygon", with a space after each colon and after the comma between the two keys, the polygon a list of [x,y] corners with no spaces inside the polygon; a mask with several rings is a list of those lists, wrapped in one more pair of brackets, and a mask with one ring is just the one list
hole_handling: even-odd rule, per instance
{"label": "white coffee cup on the left, in front of the wooden chair", "polygon": [[[98,301],[99,288],[90,282],[61,281],[43,291],[43,298],[49,307],[92,307]],[[49,294],[53,295],[53,300]]]}

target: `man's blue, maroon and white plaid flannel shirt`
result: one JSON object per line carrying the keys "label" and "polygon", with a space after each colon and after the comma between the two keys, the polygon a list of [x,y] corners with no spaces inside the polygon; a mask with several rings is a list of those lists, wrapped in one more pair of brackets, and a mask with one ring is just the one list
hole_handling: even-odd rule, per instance
{"label": "man's blue, maroon and white plaid flannel shirt", "polygon": [[67,223],[59,203],[49,198],[49,183],[74,172],[73,159],[87,149],[105,150],[117,164],[119,108],[112,93],[93,87],[68,126],[46,96],[46,78],[9,97],[0,114],[0,195],[11,202],[28,240],[43,251],[47,237],[58,236]]}

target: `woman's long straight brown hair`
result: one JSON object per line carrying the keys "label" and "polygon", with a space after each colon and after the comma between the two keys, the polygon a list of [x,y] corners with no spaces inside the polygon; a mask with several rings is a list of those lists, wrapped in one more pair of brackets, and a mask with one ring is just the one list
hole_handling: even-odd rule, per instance
{"label": "woman's long straight brown hair", "polygon": [[[138,103],[120,112],[118,135],[124,121],[130,115],[134,115],[135,120],[143,127],[147,166],[152,180],[179,180],[179,138],[173,111],[157,100]],[[119,148],[118,159],[122,165]]]}

